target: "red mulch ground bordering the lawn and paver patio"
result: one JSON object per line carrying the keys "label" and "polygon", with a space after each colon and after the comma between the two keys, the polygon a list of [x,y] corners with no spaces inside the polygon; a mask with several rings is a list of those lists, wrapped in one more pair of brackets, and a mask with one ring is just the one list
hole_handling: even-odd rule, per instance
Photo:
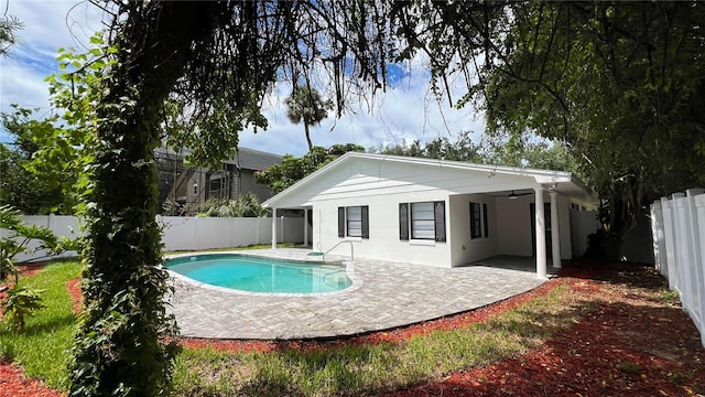
{"label": "red mulch ground bordering the lawn and paver patio", "polygon": [[[560,336],[528,354],[386,396],[705,396],[705,350],[693,322],[679,304],[639,291],[664,286],[655,270],[634,265],[582,261],[543,286],[467,313],[411,326],[330,341],[214,341],[183,339],[188,348],[226,351],[326,348],[343,344],[395,343],[432,330],[454,329],[543,296],[561,283],[589,296],[597,309]],[[80,282],[67,288],[80,307]],[[59,396],[0,363],[0,397]]]}

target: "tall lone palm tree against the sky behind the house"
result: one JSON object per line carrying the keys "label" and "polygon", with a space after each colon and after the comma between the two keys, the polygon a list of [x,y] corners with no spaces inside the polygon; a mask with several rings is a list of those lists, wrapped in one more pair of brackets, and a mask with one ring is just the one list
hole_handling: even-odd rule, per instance
{"label": "tall lone palm tree against the sky behind the house", "polygon": [[310,86],[296,86],[286,98],[284,104],[289,107],[286,117],[293,124],[304,122],[306,142],[308,151],[313,148],[308,126],[321,124],[321,120],[328,116],[328,110],[333,109],[333,101],[324,100],[315,88]]}

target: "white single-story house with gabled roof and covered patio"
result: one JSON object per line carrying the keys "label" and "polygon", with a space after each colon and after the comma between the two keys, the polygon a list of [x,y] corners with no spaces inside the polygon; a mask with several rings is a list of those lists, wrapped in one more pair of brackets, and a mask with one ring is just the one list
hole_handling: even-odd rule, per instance
{"label": "white single-story house with gabled roof and covered patio", "polygon": [[324,253],[350,255],[341,242],[354,242],[356,258],[436,267],[535,256],[541,278],[547,257],[560,267],[582,254],[573,251],[570,212],[596,204],[570,172],[356,152],[263,203],[312,210],[304,224]]}

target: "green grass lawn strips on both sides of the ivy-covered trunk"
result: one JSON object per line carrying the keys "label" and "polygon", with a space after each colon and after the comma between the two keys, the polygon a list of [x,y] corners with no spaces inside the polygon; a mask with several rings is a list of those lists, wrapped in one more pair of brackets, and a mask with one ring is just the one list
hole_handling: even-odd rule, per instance
{"label": "green grass lawn strips on both sides of the ivy-covered trunk", "polygon": [[[28,375],[62,390],[68,388],[68,350],[77,323],[66,281],[79,270],[76,261],[56,262],[22,279],[22,285],[44,290],[46,309],[30,319],[22,332],[0,325],[0,354],[22,365]],[[557,287],[490,321],[434,331],[398,344],[268,353],[185,348],[175,363],[175,395],[327,396],[398,389],[522,354],[573,324],[588,305],[567,287]]]}

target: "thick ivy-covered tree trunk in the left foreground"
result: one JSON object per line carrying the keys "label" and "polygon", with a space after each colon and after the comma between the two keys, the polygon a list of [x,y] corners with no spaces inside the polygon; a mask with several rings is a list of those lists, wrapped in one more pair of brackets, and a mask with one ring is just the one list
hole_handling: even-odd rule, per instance
{"label": "thick ivy-covered tree trunk in the left foreground", "polygon": [[164,310],[154,149],[160,109],[183,76],[194,39],[209,34],[215,2],[127,3],[119,63],[100,104],[89,204],[85,318],[72,395],[155,396],[169,389],[175,322]]}

